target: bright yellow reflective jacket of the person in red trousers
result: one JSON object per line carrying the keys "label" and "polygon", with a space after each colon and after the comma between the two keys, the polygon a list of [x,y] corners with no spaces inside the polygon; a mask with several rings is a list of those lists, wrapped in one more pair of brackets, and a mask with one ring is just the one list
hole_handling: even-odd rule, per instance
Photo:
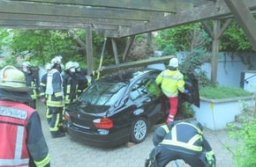
{"label": "bright yellow reflective jacket of the person in red trousers", "polygon": [[179,70],[166,69],[155,78],[161,84],[162,92],[169,98],[177,97],[178,91],[184,92],[184,76]]}

